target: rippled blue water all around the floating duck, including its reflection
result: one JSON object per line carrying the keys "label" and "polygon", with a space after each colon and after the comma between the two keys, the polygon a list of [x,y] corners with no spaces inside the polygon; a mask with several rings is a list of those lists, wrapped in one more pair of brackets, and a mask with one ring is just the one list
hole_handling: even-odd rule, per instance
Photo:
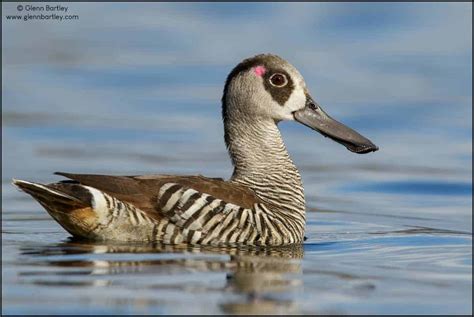
{"label": "rippled blue water all around the floating duck, including its reflection", "polygon": [[[472,313],[471,4],[67,6],[78,21],[6,21],[2,3],[2,313]],[[259,52],[380,147],[281,124],[304,245],[77,241],[10,185],[230,176],[219,99]]]}

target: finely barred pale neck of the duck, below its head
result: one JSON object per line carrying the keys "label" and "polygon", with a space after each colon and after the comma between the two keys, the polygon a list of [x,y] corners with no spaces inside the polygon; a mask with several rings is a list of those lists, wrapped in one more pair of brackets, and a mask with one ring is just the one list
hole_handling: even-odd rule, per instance
{"label": "finely barred pale neck of the duck, below its head", "polygon": [[231,182],[250,187],[264,202],[304,217],[301,176],[273,120],[224,120],[234,165]]}

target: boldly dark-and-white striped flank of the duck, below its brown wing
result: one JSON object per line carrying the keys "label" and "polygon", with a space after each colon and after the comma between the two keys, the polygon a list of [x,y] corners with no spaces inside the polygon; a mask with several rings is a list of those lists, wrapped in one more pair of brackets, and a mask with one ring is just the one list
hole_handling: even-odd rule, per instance
{"label": "boldly dark-and-white striped flank of the duck, below its brown wing", "polygon": [[[134,224],[144,220],[133,206],[123,205],[112,197],[107,199],[112,201],[112,215],[126,210]],[[161,187],[158,204],[169,218],[154,225],[153,238],[157,241],[213,245],[276,245],[302,241],[304,218],[288,216],[263,204],[242,208],[174,183]]]}

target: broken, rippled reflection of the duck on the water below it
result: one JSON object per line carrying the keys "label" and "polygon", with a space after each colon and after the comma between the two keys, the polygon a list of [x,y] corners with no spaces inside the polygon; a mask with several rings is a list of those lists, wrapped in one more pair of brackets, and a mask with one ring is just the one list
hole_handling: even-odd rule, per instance
{"label": "broken, rippled reflection of the duck on the water below it", "polygon": [[[20,274],[23,277],[40,278],[29,279],[29,282],[37,285],[104,287],[116,284],[114,276],[117,275],[123,283],[125,276],[133,281],[137,280],[139,274],[151,274],[153,278],[140,282],[140,289],[172,287],[192,291],[193,287],[186,287],[183,282],[170,285],[169,279],[166,279],[164,284],[160,284],[160,276],[165,279],[173,274],[223,272],[226,273],[222,283],[224,286],[216,287],[203,281],[207,290],[232,295],[220,296],[224,299],[220,302],[223,312],[298,312],[292,294],[302,284],[302,245],[272,248],[121,245],[70,239],[55,245],[23,248],[22,254],[34,259],[33,262],[38,268],[62,268],[22,270]],[[31,262],[28,262],[30,267]],[[76,278],[48,278],[52,275]],[[77,275],[87,275],[88,278],[83,280]],[[134,286],[137,284],[129,285]]]}

